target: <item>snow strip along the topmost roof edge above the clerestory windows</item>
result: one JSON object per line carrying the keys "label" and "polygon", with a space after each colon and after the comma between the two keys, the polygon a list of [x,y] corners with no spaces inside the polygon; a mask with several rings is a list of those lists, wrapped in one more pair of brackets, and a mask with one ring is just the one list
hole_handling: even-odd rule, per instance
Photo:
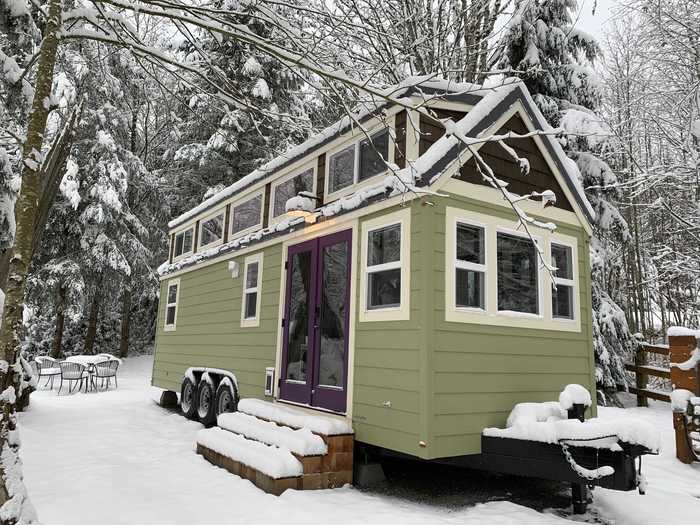
{"label": "snow strip along the topmost roof edge above the clerestory windows", "polygon": [[[409,77],[400,84],[386,88],[385,90],[383,90],[383,94],[386,97],[390,97],[396,100],[397,102],[411,104],[410,100],[404,100],[400,97],[408,94],[416,94],[421,92],[429,93],[431,91],[438,93],[444,92],[452,95],[468,93],[474,95],[475,97],[481,97],[486,93],[490,92],[491,90],[483,89],[477,84],[452,82],[449,80],[436,78],[432,75],[426,75],[422,77]],[[387,100],[383,98],[368,98],[362,103],[361,109],[354,115],[354,119],[362,121],[363,119],[368,118],[373,114],[376,114],[388,104],[389,103],[387,102]],[[353,120],[351,120],[351,118],[348,115],[345,115],[339,121],[327,127],[320,133],[317,133],[316,135],[312,136],[307,141],[302,142],[298,146],[294,146],[293,148],[285,151],[284,153],[275,157],[260,168],[249,173],[242,179],[234,182],[230,186],[227,186],[220,192],[204,200],[196,207],[192,208],[189,211],[186,211],[182,215],[171,220],[168,223],[168,227],[176,228],[177,226],[186,223],[187,221],[199,215],[200,213],[208,210],[209,208],[216,206],[218,203],[236,195],[236,193],[238,193],[239,191],[249,186],[252,186],[257,182],[260,182],[268,175],[271,175],[272,173],[281,169],[287,164],[290,164],[291,162],[300,159],[305,154],[322,146],[324,143],[331,140],[339,133],[343,132],[343,130],[352,125],[352,123]]]}

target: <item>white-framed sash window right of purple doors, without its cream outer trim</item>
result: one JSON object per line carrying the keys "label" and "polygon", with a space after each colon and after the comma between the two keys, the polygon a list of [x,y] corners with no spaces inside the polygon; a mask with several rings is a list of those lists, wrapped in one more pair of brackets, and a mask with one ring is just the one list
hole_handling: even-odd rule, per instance
{"label": "white-framed sash window right of purple doors, without its cream outer trim", "polygon": [[401,223],[367,235],[367,309],[401,306]]}

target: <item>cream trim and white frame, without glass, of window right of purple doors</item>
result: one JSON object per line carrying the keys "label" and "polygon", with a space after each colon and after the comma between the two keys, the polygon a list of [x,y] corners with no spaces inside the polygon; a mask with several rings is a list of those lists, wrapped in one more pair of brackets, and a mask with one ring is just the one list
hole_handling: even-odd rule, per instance
{"label": "cream trim and white frame, without glass, of window right of purple doors", "polygon": [[[399,306],[389,308],[367,308],[367,282],[368,274],[372,273],[367,268],[367,251],[369,233],[381,228],[401,225],[401,259],[399,263],[385,263],[373,266],[374,272],[392,268],[401,269],[401,303]],[[411,209],[403,208],[399,211],[388,213],[362,223],[361,250],[360,250],[360,322],[372,321],[407,321],[411,314]]]}

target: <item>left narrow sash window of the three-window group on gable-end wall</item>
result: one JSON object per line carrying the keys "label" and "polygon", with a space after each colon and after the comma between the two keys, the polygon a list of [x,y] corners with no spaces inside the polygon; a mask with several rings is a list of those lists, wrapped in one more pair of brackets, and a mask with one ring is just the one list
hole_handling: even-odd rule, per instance
{"label": "left narrow sash window of the three-window group on gable-end wall", "polygon": [[455,246],[455,305],[485,309],[486,246],[484,228],[457,223]]}

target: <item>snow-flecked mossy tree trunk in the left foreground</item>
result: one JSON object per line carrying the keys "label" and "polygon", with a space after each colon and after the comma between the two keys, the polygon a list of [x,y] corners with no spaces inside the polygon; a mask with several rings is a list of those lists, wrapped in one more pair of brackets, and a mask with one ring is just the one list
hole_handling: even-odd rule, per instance
{"label": "snow-flecked mossy tree trunk in the left foreground", "polygon": [[[10,256],[9,277],[5,287],[5,309],[0,328],[0,382],[3,395],[0,399],[2,420],[0,420],[0,525],[15,525],[36,520],[34,511],[26,496],[19,463],[19,442],[14,437],[15,402],[14,393],[19,391],[22,368],[19,362],[19,345],[22,338],[22,316],[24,313],[24,292],[27,271],[32,258],[32,241],[39,195],[41,192],[41,149],[46,132],[49,107],[44,100],[51,96],[58,30],[61,26],[61,0],[50,0],[43,40],[39,49],[37,76],[32,109],[27,120],[27,134],[22,147],[22,188],[15,207],[15,242]],[[12,480],[11,484],[7,480]]]}

